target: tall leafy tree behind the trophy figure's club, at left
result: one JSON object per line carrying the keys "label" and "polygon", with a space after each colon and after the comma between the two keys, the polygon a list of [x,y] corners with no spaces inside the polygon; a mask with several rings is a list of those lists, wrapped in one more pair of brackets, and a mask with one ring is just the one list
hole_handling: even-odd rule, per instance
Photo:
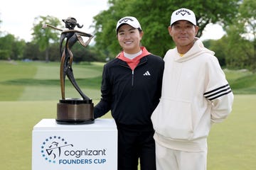
{"label": "tall leafy tree behind the trophy figure's club, at left", "polygon": [[46,51],[46,62],[49,61],[49,47],[50,43],[58,42],[60,33],[58,30],[46,28],[43,25],[50,24],[60,28],[60,21],[53,16],[38,16],[33,22],[33,43],[38,43],[39,50]]}

